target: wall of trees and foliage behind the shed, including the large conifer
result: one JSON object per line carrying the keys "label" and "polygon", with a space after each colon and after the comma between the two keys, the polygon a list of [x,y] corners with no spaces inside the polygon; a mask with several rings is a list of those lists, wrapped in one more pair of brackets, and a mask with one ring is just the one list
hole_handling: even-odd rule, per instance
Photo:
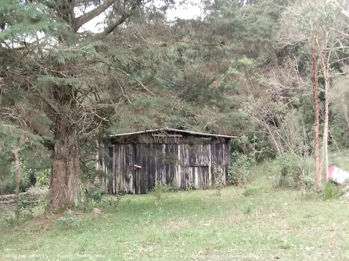
{"label": "wall of trees and foliage behind the shed, including the large conifer", "polygon": [[[170,21],[176,5],[2,1],[0,193],[19,148],[21,190],[49,183],[54,208],[78,205],[99,141],[165,127],[235,135],[235,162],[276,158],[309,183],[315,103],[320,173],[325,146],[349,146],[345,2],[202,1],[201,17]],[[103,31],[83,30],[102,13]]]}

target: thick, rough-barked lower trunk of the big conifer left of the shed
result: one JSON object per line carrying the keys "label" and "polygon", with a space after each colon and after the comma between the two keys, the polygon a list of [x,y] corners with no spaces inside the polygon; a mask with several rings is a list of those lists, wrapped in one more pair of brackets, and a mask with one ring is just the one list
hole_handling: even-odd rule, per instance
{"label": "thick, rough-barked lower trunk of the big conifer left of the shed", "polygon": [[51,210],[71,208],[85,202],[80,179],[79,139],[75,133],[60,135],[52,154]]}

